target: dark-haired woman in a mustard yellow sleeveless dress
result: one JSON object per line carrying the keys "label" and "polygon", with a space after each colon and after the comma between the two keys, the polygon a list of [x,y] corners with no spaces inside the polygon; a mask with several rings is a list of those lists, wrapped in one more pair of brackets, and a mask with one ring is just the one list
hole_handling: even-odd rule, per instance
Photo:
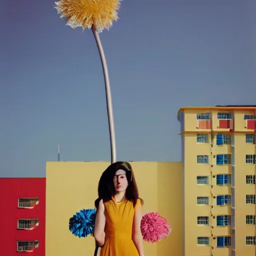
{"label": "dark-haired woman in a mustard yellow sleeveless dress", "polygon": [[115,162],[102,173],[94,238],[100,256],[144,256],[140,220],[143,200],[128,162]]}

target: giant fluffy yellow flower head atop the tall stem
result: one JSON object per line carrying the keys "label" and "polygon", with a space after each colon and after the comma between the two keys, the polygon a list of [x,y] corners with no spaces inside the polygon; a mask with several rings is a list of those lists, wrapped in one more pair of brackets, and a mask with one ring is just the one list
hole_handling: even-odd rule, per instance
{"label": "giant fluffy yellow flower head atop the tall stem", "polygon": [[55,2],[60,18],[72,28],[95,26],[98,32],[109,29],[118,19],[119,0],[58,0]]}

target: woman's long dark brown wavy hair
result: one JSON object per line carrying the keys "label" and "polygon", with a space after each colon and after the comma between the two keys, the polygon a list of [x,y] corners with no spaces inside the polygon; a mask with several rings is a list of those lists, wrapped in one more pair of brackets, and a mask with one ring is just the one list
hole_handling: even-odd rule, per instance
{"label": "woman's long dark brown wavy hair", "polygon": [[[128,186],[126,188],[125,197],[127,200],[133,203],[135,206],[138,197],[138,188],[132,170],[131,165],[128,162],[118,161],[110,164],[101,174],[101,177],[98,182],[98,198],[95,200],[95,207],[98,207],[99,200],[102,199],[103,202],[107,202],[112,199],[112,196],[115,195],[115,187],[113,184],[113,177],[115,172],[119,169],[125,171],[126,178],[128,181]],[[141,204],[143,204],[143,200]]]}

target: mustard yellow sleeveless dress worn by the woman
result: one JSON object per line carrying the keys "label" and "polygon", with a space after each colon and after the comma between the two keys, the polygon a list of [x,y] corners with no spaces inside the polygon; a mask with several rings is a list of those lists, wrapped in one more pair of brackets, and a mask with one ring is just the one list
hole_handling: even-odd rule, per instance
{"label": "mustard yellow sleeveless dress worn by the woman", "polygon": [[[139,202],[138,199],[137,203]],[[139,256],[131,239],[135,212],[133,203],[128,200],[115,202],[112,199],[105,202],[104,206],[106,217],[105,243],[100,250],[100,256]]]}

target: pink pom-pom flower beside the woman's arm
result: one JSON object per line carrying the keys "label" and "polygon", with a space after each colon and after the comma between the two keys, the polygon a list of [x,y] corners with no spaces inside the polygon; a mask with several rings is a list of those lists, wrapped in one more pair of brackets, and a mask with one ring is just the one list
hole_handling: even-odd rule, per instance
{"label": "pink pom-pom flower beside the woman's arm", "polygon": [[140,222],[140,229],[143,240],[152,243],[167,237],[171,232],[170,224],[157,212],[144,214]]}

